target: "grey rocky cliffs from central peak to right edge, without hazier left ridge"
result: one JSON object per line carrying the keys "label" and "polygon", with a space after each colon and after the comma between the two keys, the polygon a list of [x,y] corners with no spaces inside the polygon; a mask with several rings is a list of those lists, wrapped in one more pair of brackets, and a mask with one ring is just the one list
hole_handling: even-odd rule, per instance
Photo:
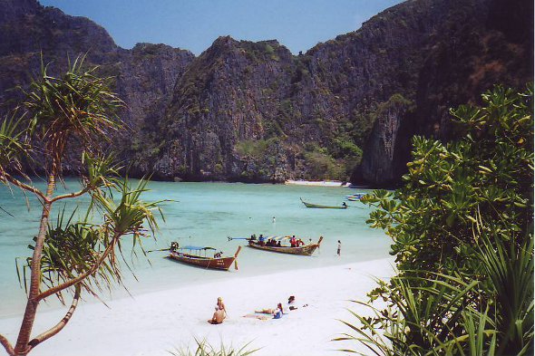
{"label": "grey rocky cliffs from central peak to right edge, without hazier left ridge", "polygon": [[177,82],[153,169],[282,180],[344,178],[356,166],[353,181],[391,186],[414,134],[449,140],[450,107],[532,78],[532,36],[501,25],[532,32],[532,10],[503,6],[408,1],[298,56],[277,42],[219,38]]}

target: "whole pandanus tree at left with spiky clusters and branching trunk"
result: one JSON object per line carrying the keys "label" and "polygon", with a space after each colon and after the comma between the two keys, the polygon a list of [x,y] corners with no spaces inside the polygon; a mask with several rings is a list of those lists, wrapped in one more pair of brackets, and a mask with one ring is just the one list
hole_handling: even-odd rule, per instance
{"label": "whole pandanus tree at left with spiky clusters and branching trunk", "polygon": [[[83,62],[77,58],[58,77],[48,75],[42,65],[40,76],[23,91],[24,101],[0,125],[0,182],[33,194],[42,206],[33,255],[23,268],[22,275],[29,275],[23,277],[27,303],[15,345],[0,334],[9,355],[26,355],[60,332],[83,292],[98,296],[112,283],[121,283],[122,237],[130,236],[134,248],[158,227],[158,203],[141,201],[147,182],[133,186],[119,178],[106,149],[112,132],[122,130],[117,116],[122,101],[110,91],[109,78],[99,78],[96,67]],[[82,152],[81,188],[58,194],[56,185],[63,181],[64,159],[72,147]],[[44,172],[44,191],[24,175],[23,162]],[[57,221],[51,222],[55,203],[83,195],[89,195],[91,203],[81,221],[60,209]],[[39,304],[53,296],[65,303],[66,295],[73,300],[63,319],[33,336]]]}

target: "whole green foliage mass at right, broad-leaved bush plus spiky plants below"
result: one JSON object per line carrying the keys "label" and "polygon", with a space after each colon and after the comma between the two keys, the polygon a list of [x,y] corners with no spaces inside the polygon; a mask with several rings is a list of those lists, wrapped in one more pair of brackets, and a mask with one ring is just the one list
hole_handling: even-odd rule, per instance
{"label": "whole green foliage mass at right, broad-leaved bush plus spiky plants below", "polygon": [[461,140],[414,138],[404,188],[363,198],[399,274],[339,340],[377,355],[533,353],[532,85],[482,101],[451,111]]}

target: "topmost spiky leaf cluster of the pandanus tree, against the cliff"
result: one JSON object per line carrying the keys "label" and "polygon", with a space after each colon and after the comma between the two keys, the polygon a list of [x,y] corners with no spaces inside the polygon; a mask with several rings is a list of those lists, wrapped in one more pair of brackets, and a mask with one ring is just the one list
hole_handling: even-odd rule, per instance
{"label": "topmost spiky leaf cluster of the pandanus tree, against the cliff", "polygon": [[69,140],[79,140],[83,147],[99,147],[109,140],[111,130],[121,128],[116,111],[122,101],[108,88],[109,78],[93,73],[97,67],[84,68],[85,56],[69,61],[62,77],[48,75],[42,63],[41,76],[24,91],[21,108],[28,112],[28,128],[44,144],[48,171],[61,173],[64,149]]}

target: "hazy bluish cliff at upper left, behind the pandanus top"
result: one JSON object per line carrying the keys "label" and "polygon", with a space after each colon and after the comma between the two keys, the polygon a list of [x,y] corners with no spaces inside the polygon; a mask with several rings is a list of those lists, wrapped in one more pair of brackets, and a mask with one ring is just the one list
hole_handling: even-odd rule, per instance
{"label": "hazy bluish cliff at upper left, behind the pandanus top", "polygon": [[[121,113],[128,128],[115,138],[122,157],[144,139],[144,131],[163,115],[177,78],[194,55],[164,44],[138,43],[124,50],[98,24],[63,14],[35,0],[0,0],[0,102],[4,111],[20,98],[20,91],[40,71],[41,55],[49,73],[64,71],[67,60],[87,53],[86,62],[99,65],[99,74],[113,76],[112,86],[125,102]],[[1,110],[1,109],[0,109]],[[76,170],[79,154],[72,152],[67,167]]]}

